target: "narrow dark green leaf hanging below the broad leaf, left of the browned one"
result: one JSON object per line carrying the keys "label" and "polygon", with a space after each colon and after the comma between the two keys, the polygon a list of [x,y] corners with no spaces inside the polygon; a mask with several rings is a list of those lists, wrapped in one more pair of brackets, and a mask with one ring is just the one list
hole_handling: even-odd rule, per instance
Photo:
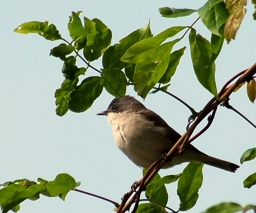
{"label": "narrow dark green leaf hanging below the broad leaf, left of the browned one", "polygon": [[224,39],[225,39],[224,36],[218,36],[218,35],[212,34],[212,36],[211,36],[211,52],[212,52],[212,57],[210,59],[210,62],[209,62],[208,66],[211,66],[212,63],[219,56],[221,48],[223,46]]}

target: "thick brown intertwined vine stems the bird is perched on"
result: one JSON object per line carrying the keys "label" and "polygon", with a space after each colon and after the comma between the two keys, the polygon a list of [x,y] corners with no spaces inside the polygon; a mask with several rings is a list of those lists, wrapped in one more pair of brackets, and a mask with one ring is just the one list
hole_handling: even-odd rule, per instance
{"label": "thick brown intertwined vine stems the bird is perched on", "polygon": [[[235,76],[233,76],[230,80],[228,80],[227,83],[224,84],[222,89],[219,92],[219,99],[217,100],[215,97],[212,98],[205,106],[204,108],[199,112],[198,117],[194,121],[194,123],[188,128],[188,130],[180,137],[180,139],[175,143],[175,145],[172,147],[172,149],[166,154],[166,160],[172,159],[173,156],[176,154],[181,153],[184,151],[188,143],[192,142],[194,139],[202,135],[212,124],[214,115],[216,113],[217,107],[222,103],[223,101],[227,101],[229,99],[229,96],[232,94],[232,92],[236,89],[236,87],[245,82],[247,79],[252,78],[253,75],[256,73],[256,63],[254,63],[249,69],[244,70]],[[228,86],[232,81],[234,81],[237,77],[242,75],[235,83]],[[208,123],[207,125],[199,131],[193,138],[189,140],[192,133],[194,132],[195,128],[198,126],[198,124],[209,114],[212,112],[212,115],[208,117]],[[148,183],[153,179],[153,177],[156,175],[156,173],[162,168],[162,166],[166,163],[162,158],[158,159],[156,162],[154,162],[144,177],[138,181],[136,185],[134,185],[134,188],[138,188],[138,185],[140,185],[140,188],[138,189],[138,192],[128,201],[128,199],[131,197],[133,191],[130,190],[128,193],[124,195],[124,199],[121,202],[120,207],[117,210],[117,213],[123,213],[130,209],[132,203],[135,202],[135,206],[132,210],[132,212],[136,212],[138,203],[140,201],[140,193],[142,190],[148,185]],[[128,202],[127,202],[128,201]],[[127,203],[126,203],[127,202]],[[126,203],[126,204],[125,204]]]}

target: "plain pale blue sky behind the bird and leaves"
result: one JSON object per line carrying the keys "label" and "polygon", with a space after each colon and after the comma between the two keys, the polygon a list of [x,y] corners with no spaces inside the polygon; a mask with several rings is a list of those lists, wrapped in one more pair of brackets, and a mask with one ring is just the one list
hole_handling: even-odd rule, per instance
{"label": "plain pale blue sky behind the bird and leaves", "polygon": [[[205,0],[198,1],[39,1],[1,0],[0,8],[0,183],[37,177],[53,180],[59,173],[68,173],[80,181],[79,189],[95,193],[120,203],[132,183],[141,177],[141,169],[134,165],[116,147],[107,118],[96,116],[106,110],[114,98],[103,90],[92,107],[84,113],[68,112],[63,117],[55,114],[54,91],[64,80],[62,61],[49,56],[50,49],[60,41],[47,41],[37,34],[21,35],[13,29],[26,21],[45,21],[70,41],[67,30],[71,11],[89,19],[98,18],[111,29],[112,44],[132,31],[144,27],[150,19],[154,35],[172,26],[188,26],[197,13],[185,18],[162,18],[160,7],[198,9]],[[252,20],[253,6],[247,13],[229,45],[226,42],[216,60],[216,82],[220,90],[233,75],[250,67],[256,59],[256,22]],[[201,21],[194,26],[198,33],[210,39],[210,32]],[[170,92],[177,95],[196,111],[212,98],[196,79],[193,71],[188,35],[173,50],[187,46]],[[101,60],[92,63],[100,69]],[[78,67],[85,67],[79,61]],[[86,76],[98,75],[88,70]],[[83,78],[83,76],[82,76]],[[82,79],[81,78],[81,79]],[[81,81],[80,79],[80,81]],[[136,95],[132,87],[127,94]],[[180,134],[185,132],[189,110],[175,99],[158,92],[148,95],[143,104],[155,111]],[[231,95],[230,104],[256,123],[255,105],[247,98],[245,87]],[[206,124],[202,123],[201,128]],[[200,130],[200,127],[197,130]],[[256,130],[232,111],[219,107],[211,128],[193,142],[199,150],[211,156],[239,164],[241,154],[255,147]],[[161,170],[160,175],[180,173],[186,164]],[[256,160],[245,162],[233,174],[205,165],[204,182],[196,206],[190,213],[202,212],[208,207],[233,201],[241,205],[256,204],[255,190],[243,188],[243,180],[255,172]],[[167,185],[168,206],[178,209],[177,182]],[[23,212],[113,212],[114,206],[96,198],[70,192],[65,202],[59,198],[41,196],[37,201],[21,203]]]}

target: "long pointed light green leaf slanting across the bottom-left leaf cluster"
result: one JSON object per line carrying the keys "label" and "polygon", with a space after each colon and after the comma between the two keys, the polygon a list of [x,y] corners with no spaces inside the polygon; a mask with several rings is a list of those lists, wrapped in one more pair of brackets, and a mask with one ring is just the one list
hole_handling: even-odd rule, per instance
{"label": "long pointed light green leaf slanting across the bottom-left leaf cluster", "polygon": [[10,200],[6,203],[6,205],[3,207],[2,213],[8,212],[12,208],[17,208],[16,206],[20,204],[21,202],[25,201],[26,199],[32,197],[39,191],[44,189],[43,185],[31,185],[26,189],[23,189],[21,191],[16,192]]}

